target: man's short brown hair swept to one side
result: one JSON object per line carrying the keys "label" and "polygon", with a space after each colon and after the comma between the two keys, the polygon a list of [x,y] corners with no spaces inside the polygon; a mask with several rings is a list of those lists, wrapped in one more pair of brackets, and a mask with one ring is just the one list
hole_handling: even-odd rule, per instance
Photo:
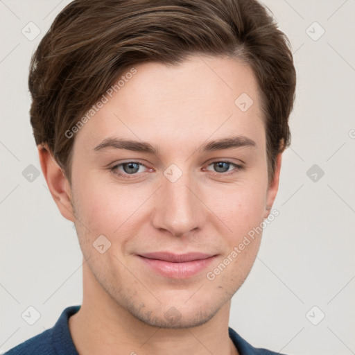
{"label": "man's short brown hair swept to one side", "polygon": [[71,130],[128,68],[227,55],[257,79],[268,178],[291,144],[296,75],[288,38],[255,0],[75,0],[55,18],[31,60],[31,125],[71,182]]}

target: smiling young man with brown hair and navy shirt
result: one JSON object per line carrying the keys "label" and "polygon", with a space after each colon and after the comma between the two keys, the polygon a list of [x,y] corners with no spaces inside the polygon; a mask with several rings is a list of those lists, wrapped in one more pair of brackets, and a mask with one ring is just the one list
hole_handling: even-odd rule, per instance
{"label": "smiling young man with brown hair and navy shirt", "polygon": [[228,327],[290,144],[295,69],[266,9],[76,0],[40,42],[29,87],[84,292],[7,354],[275,354]]}

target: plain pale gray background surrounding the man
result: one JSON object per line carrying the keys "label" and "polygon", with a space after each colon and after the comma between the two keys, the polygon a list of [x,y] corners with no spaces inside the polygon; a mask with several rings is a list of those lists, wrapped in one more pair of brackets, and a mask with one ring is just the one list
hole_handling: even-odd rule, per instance
{"label": "plain pale gray background surrounding the man", "polygon": [[[40,171],[28,66],[67,3],[0,0],[0,353],[52,327],[82,299],[73,224],[60,215],[42,172],[28,175],[33,166]],[[355,354],[355,0],[263,3],[293,47],[293,141],[274,205],[280,214],[234,296],[230,326],[254,346],[286,354]],[[30,21],[41,31],[34,40],[21,33],[35,35]],[[28,306],[40,313],[33,325],[21,317]]]}

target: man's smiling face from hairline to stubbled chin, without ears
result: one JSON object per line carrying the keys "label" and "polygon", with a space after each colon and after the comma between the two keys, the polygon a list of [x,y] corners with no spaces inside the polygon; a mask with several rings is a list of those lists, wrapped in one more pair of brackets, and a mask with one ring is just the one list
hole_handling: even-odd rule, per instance
{"label": "man's smiling face from hairline to stubbled chin, without ears", "polygon": [[275,198],[257,83],[225,58],[136,69],[76,133],[74,222],[87,272],[118,306],[193,327],[250,272],[260,235],[245,236]]}

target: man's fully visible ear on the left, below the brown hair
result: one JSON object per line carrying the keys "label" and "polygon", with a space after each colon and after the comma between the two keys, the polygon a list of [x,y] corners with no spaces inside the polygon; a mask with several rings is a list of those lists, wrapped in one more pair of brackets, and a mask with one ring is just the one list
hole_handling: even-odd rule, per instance
{"label": "man's fully visible ear on the left, below the brown hair", "polygon": [[42,173],[46,179],[49,191],[60,213],[67,220],[74,222],[73,206],[71,205],[71,187],[62,168],[55,162],[47,144],[37,146]]}

